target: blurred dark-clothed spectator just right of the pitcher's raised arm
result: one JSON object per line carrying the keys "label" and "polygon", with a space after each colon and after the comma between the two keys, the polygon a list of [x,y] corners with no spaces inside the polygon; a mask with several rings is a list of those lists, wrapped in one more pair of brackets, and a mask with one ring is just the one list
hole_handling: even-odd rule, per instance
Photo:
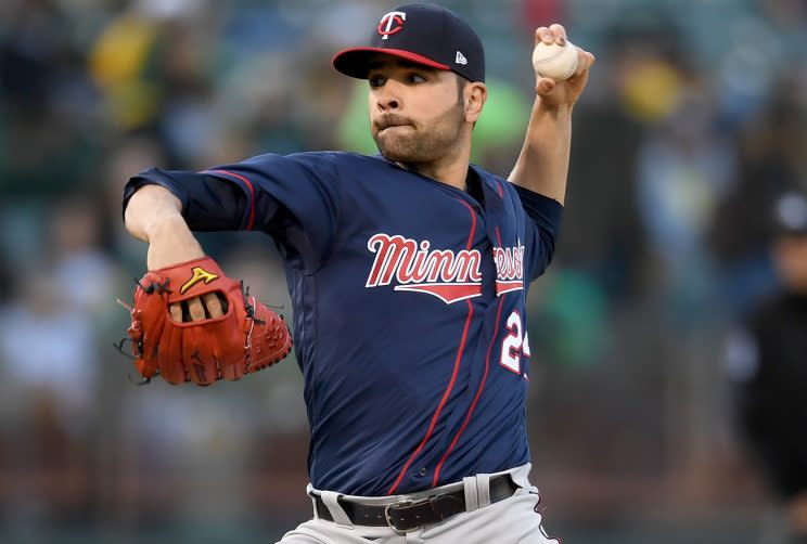
{"label": "blurred dark-clothed spectator just right of the pitcher's raised arm", "polygon": [[629,303],[642,293],[646,242],[637,160],[649,121],[637,103],[667,104],[670,94],[677,96],[677,87],[640,92],[636,82],[650,80],[644,70],[662,54],[663,43],[663,35],[623,27],[610,30],[609,48],[598,53],[598,70],[591,75],[592,94],[575,117],[558,259],[581,277],[590,277],[607,306]]}

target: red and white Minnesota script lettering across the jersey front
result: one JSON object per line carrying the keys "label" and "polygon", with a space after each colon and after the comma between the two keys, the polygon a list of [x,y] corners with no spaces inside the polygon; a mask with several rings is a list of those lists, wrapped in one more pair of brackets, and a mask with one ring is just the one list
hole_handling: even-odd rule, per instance
{"label": "red and white Minnesota script lettering across the jersey front", "polygon": [[[395,290],[433,295],[447,305],[482,295],[482,255],[477,249],[432,249],[427,239],[375,234],[367,242],[375,254],[366,287],[395,282]],[[524,246],[494,248],[496,294],[524,288]]]}

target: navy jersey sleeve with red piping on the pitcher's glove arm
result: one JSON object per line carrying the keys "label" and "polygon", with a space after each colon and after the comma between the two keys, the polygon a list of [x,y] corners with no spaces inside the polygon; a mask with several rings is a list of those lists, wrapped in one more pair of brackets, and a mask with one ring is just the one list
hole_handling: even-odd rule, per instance
{"label": "navy jersey sleeve with red piping on the pitcher's glove arm", "polygon": [[286,261],[311,271],[335,243],[341,193],[333,155],[260,155],[188,172],[150,168],[124,189],[124,210],[146,184],[168,189],[193,231],[264,231]]}

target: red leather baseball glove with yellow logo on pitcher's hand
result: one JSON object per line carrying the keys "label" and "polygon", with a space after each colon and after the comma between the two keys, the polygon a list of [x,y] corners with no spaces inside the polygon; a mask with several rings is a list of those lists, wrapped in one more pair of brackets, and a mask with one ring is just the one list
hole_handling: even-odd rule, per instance
{"label": "red leather baseball glove with yellow logo on pitcher's hand", "polygon": [[[182,323],[171,319],[171,305],[210,293],[217,294],[222,315]],[[292,349],[283,318],[255,300],[242,282],[227,277],[209,257],[146,272],[134,288],[133,307],[127,308],[128,338],[116,347],[123,351],[123,344],[131,342],[143,383],[157,375],[170,384],[200,386],[235,380],[277,363]]]}

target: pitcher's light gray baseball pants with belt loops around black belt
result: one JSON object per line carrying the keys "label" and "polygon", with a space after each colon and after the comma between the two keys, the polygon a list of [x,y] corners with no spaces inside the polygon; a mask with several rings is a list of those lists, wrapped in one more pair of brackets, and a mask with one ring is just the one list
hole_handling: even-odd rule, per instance
{"label": "pitcher's light gray baseball pants with belt loops around black belt", "polygon": [[[504,472],[476,475],[464,478],[462,482],[395,497],[346,496],[317,491],[309,485],[309,495],[312,492],[321,494],[335,521],[320,519],[315,507],[315,518],[287,532],[278,544],[559,544],[560,541],[550,539],[541,527],[538,490],[529,483],[529,469],[527,464]],[[513,496],[490,504],[490,478],[508,472],[518,490]],[[388,527],[355,526],[336,502],[338,496],[369,505],[386,504],[390,500],[417,501],[435,492],[460,488],[465,492],[467,511],[407,533],[397,533]]]}

